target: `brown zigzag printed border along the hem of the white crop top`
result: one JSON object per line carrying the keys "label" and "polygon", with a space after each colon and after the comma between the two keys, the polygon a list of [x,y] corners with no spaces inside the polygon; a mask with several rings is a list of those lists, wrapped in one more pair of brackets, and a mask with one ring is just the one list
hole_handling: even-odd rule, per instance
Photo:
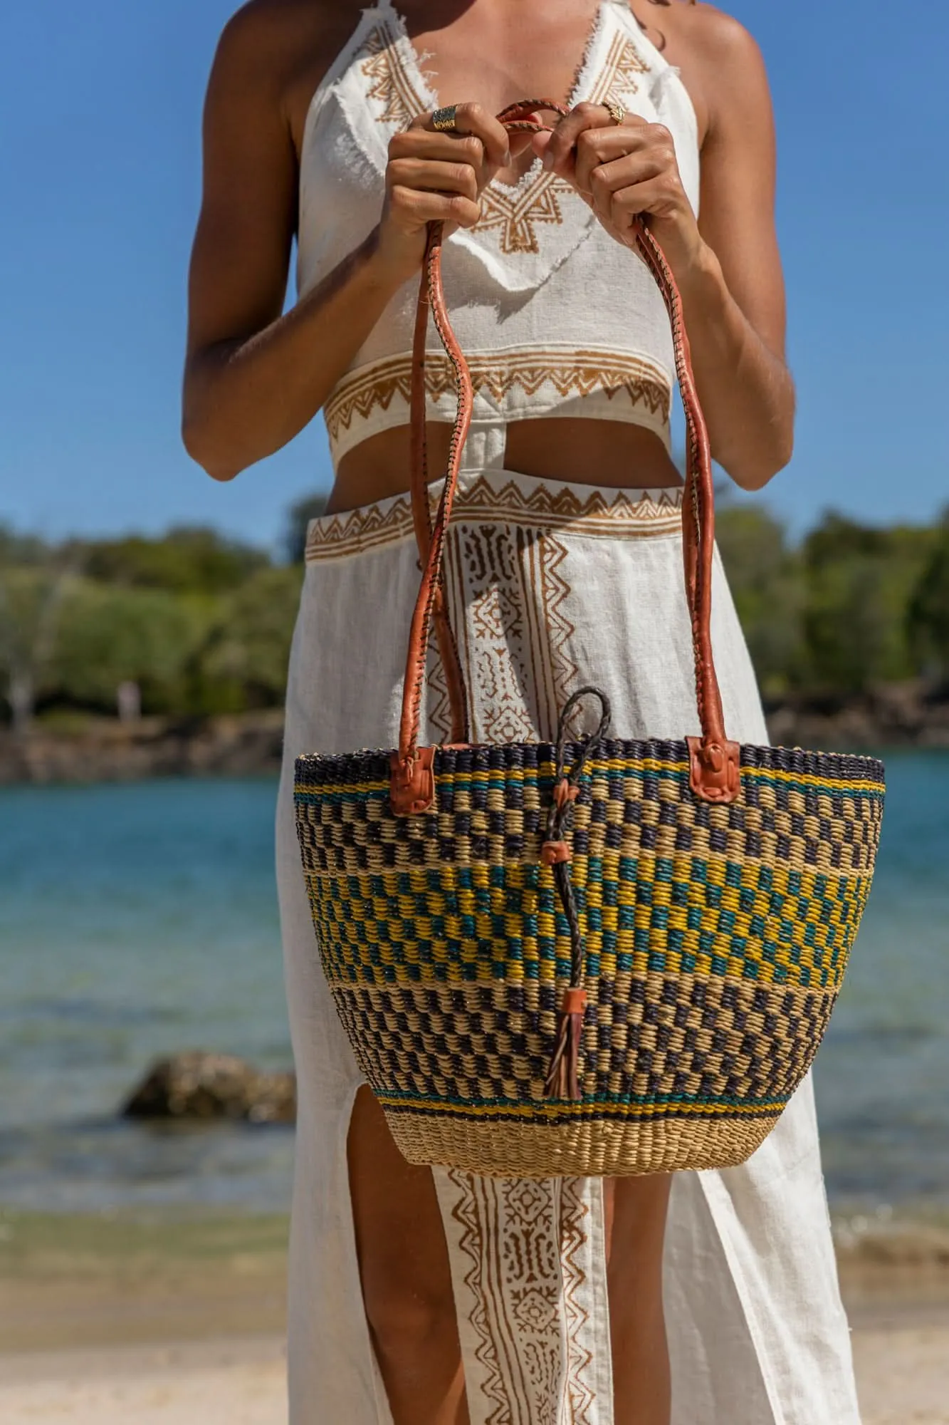
{"label": "brown zigzag printed border along the hem of the white crop top", "polygon": [[[644,409],[663,425],[670,418],[668,376],[661,366],[641,356],[621,352],[543,351],[467,356],[474,396],[499,405],[514,390],[536,396],[544,386],[563,398],[603,393],[607,400],[627,396],[634,409]],[[430,400],[455,400],[455,375],[449,359],[432,352],[426,356],[425,386]],[[352,376],[343,376],[325,406],[326,430],[339,440],[355,419],[368,420],[373,410],[388,410],[393,400],[409,403],[412,395],[412,356],[392,356],[375,362]]]}

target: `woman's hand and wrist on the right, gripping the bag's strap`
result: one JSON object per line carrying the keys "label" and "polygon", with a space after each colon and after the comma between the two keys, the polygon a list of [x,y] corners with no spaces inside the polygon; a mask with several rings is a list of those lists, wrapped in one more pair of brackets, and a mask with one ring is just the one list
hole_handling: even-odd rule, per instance
{"label": "woman's hand and wrist on the right, gripping the bag's strap", "polygon": [[704,244],[683,188],[668,128],[638,114],[614,123],[603,104],[577,104],[551,134],[537,134],[544,167],[566,178],[590,204],[610,237],[634,244],[630,227],[645,218],[678,276],[698,261]]}

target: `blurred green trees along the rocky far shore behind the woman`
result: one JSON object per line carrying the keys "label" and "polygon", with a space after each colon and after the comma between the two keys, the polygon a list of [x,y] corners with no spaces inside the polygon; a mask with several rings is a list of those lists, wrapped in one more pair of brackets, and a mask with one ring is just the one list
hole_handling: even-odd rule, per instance
{"label": "blurred green trees along the rocky far shore behind the woman", "polygon": [[[276,551],[212,529],[58,544],[0,526],[0,784],[274,774],[308,522]],[[826,513],[794,542],[722,494],[718,543],[771,738],[949,748],[949,509]]]}

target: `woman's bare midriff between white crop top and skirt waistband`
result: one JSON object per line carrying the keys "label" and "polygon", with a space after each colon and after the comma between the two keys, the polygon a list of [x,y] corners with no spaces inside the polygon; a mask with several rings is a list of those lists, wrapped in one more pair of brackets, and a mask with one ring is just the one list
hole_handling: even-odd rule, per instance
{"label": "woman's bare midriff between white crop top and skirt waistband", "polygon": [[[445,473],[452,428],[427,426],[429,479]],[[544,480],[654,490],[681,484],[660,437],[620,420],[554,418],[507,426],[504,469]],[[355,510],[409,489],[409,428],[380,430],[339,462],[326,513]]]}

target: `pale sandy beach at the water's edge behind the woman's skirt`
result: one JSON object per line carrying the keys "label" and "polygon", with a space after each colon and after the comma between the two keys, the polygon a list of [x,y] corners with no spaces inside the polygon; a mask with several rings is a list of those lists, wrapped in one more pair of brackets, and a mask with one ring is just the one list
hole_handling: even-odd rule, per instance
{"label": "pale sandy beach at the water's edge behind the woman's skirt", "polygon": [[[285,1231],[7,1214],[0,1419],[285,1425]],[[845,1235],[839,1257],[864,1425],[949,1425],[945,1230]]]}

